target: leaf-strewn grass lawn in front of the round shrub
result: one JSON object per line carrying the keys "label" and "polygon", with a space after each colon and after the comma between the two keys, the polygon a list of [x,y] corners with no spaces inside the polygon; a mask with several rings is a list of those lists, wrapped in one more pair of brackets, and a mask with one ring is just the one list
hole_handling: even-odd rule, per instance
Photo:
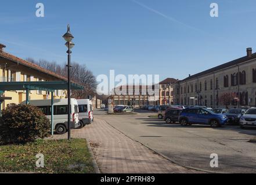
{"label": "leaf-strewn grass lawn in front of the round shrub", "polygon": [[[44,168],[35,156],[44,154]],[[0,146],[0,172],[94,173],[85,139],[42,140],[26,145]]]}

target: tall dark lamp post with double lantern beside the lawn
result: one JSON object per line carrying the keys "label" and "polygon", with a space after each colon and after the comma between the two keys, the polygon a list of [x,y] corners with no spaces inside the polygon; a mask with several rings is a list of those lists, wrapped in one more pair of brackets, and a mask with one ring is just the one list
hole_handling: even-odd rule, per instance
{"label": "tall dark lamp post with double lantern beside the lawn", "polygon": [[67,41],[66,42],[66,46],[68,48],[67,50],[67,54],[68,54],[68,57],[67,57],[67,112],[68,112],[68,117],[67,117],[67,127],[68,127],[68,140],[71,139],[71,130],[70,130],[70,119],[71,119],[71,106],[70,106],[70,99],[71,99],[71,88],[70,88],[70,54],[72,53],[72,51],[70,49],[72,49],[75,44],[72,41],[72,39],[74,38],[74,36],[70,33],[70,26],[69,24],[67,25],[67,32],[66,34],[63,35],[63,38]]}

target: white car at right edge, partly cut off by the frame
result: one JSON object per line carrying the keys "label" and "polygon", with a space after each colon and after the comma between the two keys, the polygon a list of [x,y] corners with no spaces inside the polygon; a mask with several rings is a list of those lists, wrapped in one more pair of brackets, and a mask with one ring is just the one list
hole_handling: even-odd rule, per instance
{"label": "white car at right edge, partly cut off by the frame", "polygon": [[256,127],[256,108],[250,108],[240,118],[240,127]]}

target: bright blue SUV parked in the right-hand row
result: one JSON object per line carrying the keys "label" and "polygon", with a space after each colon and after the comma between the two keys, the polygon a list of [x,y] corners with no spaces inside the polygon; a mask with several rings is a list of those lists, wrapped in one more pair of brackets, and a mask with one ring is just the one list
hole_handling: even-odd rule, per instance
{"label": "bright blue SUV parked in the right-hand row", "polygon": [[192,124],[209,124],[212,127],[225,125],[228,117],[223,114],[216,114],[205,108],[187,108],[184,109],[179,117],[179,123],[182,126]]}

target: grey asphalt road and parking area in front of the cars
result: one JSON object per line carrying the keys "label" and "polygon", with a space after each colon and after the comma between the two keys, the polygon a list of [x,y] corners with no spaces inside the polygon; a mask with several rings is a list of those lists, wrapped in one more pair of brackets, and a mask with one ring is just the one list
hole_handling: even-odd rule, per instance
{"label": "grey asphalt road and parking area in front of the cars", "polygon": [[[98,119],[178,164],[215,172],[256,173],[256,144],[248,142],[255,138],[256,129],[182,127],[149,118],[151,114],[140,111],[136,115],[107,115],[102,110],[95,111]],[[210,167],[212,153],[218,154],[218,168]]]}

